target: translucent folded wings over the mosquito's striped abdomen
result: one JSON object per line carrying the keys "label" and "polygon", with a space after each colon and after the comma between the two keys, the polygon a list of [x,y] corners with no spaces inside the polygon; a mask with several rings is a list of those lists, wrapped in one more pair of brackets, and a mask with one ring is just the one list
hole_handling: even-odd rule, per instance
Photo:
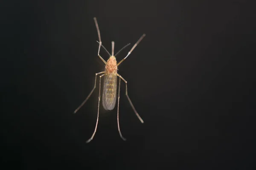
{"label": "translucent folded wings over the mosquito's striped abdomen", "polygon": [[102,103],[105,110],[112,110],[116,105],[117,71],[105,71]]}

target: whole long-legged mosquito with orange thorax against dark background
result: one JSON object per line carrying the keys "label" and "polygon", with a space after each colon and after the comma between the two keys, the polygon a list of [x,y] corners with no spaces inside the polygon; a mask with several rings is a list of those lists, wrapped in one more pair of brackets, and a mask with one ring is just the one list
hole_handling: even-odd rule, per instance
{"label": "whole long-legged mosquito with orange thorax against dark background", "polygon": [[[98,32],[98,37],[99,37],[99,49],[98,49],[98,57],[105,63],[105,71],[99,72],[95,74],[95,83],[94,83],[94,87],[93,90],[90,92],[90,94],[87,96],[87,98],[84,100],[84,102],[81,103],[81,105],[74,111],[74,113],[76,113],[83,105],[84,103],[89,99],[89,97],[91,96],[91,94],[93,93],[94,89],[96,88],[96,79],[97,79],[97,75],[101,74],[99,76],[99,101],[98,101],[98,115],[97,115],[97,122],[96,122],[96,126],[93,132],[93,135],[90,137],[90,139],[88,139],[86,141],[86,143],[89,143],[97,130],[97,125],[98,125],[98,120],[99,120],[99,102],[100,102],[100,87],[101,87],[101,78],[103,76],[104,77],[104,85],[103,85],[103,94],[102,94],[102,104],[103,104],[103,108],[105,110],[113,110],[113,108],[115,108],[116,105],[116,86],[117,86],[117,77],[119,77],[119,87],[118,87],[118,97],[117,97],[117,126],[118,126],[118,131],[119,131],[119,135],[120,137],[126,141],[126,139],[122,136],[122,133],[120,131],[120,127],[119,127],[119,98],[120,98],[120,82],[121,79],[125,82],[125,86],[126,86],[126,91],[125,91],[125,95],[128,98],[128,101],[131,104],[131,107],[133,108],[135,114],[137,115],[137,117],[140,119],[141,123],[143,122],[143,119],[141,119],[140,115],[137,113],[137,111],[134,108],[134,105],[131,102],[131,99],[128,96],[128,92],[127,92],[127,81],[120,76],[117,73],[117,67],[118,65],[120,65],[130,54],[131,52],[134,50],[134,48],[140,43],[140,41],[145,37],[145,34],[143,34],[140,39],[134,44],[134,46],[131,48],[131,50],[128,52],[128,54],[126,55],[126,57],[124,59],[122,59],[120,62],[116,62],[116,55],[122,51],[122,49],[124,49],[125,47],[127,47],[128,45],[125,45],[121,50],[119,50],[115,55],[114,55],[114,45],[115,43],[112,41],[112,53],[110,54],[106,48],[102,45],[102,41],[101,41],[101,37],[100,37],[100,31],[99,31],[99,25],[97,22],[96,17],[93,18],[95,25],[96,25],[96,29]],[[99,55],[99,51],[100,51],[100,47],[103,47],[105,49],[105,51],[108,52],[109,54],[109,59],[107,60],[107,62]]]}

